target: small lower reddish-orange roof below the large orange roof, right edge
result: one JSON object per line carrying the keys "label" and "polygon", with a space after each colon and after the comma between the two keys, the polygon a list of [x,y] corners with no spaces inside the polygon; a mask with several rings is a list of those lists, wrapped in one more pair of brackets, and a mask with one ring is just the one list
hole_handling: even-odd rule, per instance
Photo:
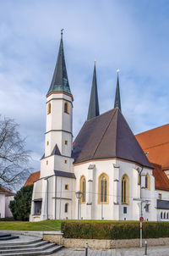
{"label": "small lower reddish-orange roof below the large orange roof, right edge", "polygon": [[155,176],[155,189],[169,191],[169,180],[162,170],[161,165],[151,163],[154,167],[153,175]]}

